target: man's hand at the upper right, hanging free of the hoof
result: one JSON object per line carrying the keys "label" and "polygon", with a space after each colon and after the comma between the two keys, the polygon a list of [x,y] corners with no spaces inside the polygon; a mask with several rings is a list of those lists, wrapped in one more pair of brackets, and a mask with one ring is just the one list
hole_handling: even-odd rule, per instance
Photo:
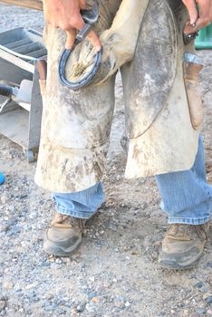
{"label": "man's hand at the upper right, hanging free of the hoof", "polygon": [[[211,0],[182,0],[188,8],[190,21],[184,30],[185,34],[198,32],[198,30],[212,22],[212,1]],[[198,7],[199,5],[199,11]]]}

